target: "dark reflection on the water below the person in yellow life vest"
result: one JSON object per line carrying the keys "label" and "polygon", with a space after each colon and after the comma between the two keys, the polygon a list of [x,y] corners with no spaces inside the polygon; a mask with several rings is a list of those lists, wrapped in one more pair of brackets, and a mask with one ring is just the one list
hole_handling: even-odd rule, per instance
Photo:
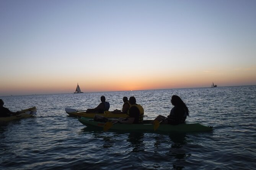
{"label": "dark reflection on the water below the person in yellow life vest", "polygon": [[145,144],[143,143],[144,133],[131,132],[128,135],[127,141],[133,149],[132,152],[140,152],[145,150]]}

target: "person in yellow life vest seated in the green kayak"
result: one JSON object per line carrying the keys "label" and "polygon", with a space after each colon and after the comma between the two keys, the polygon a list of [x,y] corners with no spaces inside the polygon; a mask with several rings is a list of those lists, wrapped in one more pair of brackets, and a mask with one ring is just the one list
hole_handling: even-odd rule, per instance
{"label": "person in yellow life vest seated in the green kayak", "polygon": [[112,122],[120,122],[120,123],[126,123],[126,124],[138,124],[142,123],[143,121],[143,115],[144,115],[144,109],[139,104],[136,104],[136,99],[134,96],[129,98],[130,101],[130,108],[127,112],[128,117],[127,118],[119,118],[118,120],[113,120]]}

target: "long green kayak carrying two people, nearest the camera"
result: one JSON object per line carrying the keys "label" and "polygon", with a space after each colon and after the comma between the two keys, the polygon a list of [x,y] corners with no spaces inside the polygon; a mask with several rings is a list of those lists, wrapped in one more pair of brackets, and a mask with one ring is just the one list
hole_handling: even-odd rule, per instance
{"label": "long green kayak carrying two people, nearest the camera", "polygon": [[[213,128],[205,126],[200,123],[183,123],[179,125],[160,124],[156,131],[154,131],[153,120],[143,120],[143,124],[122,124],[122,123],[103,123],[95,122],[93,119],[88,117],[77,117],[79,122],[83,123],[87,127],[98,127],[105,128],[108,126],[109,130],[120,130],[123,132],[129,131],[142,131],[142,132],[209,132]],[[111,124],[111,125],[109,125]]]}

